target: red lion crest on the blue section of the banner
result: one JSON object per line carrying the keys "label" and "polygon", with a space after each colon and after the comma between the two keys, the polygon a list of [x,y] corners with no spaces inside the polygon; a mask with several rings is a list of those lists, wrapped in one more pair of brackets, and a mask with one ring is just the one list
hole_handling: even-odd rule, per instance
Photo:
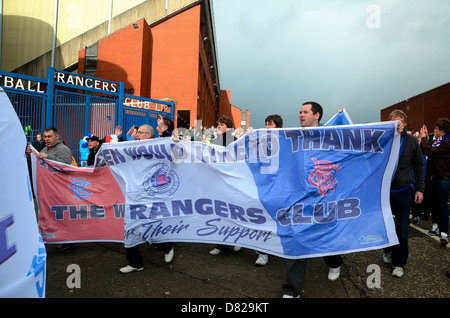
{"label": "red lion crest on the blue section of the banner", "polygon": [[312,158],[315,167],[311,171],[308,181],[309,183],[319,190],[320,196],[327,195],[327,191],[333,191],[334,186],[338,181],[334,178],[334,172],[341,170],[339,165],[335,165],[330,161]]}

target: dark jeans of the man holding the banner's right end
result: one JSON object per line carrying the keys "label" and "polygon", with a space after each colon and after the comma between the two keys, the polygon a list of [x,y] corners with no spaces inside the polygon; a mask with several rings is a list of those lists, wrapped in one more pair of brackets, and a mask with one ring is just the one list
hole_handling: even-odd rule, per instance
{"label": "dark jeans of the man holding the banner's right end", "polygon": [[392,252],[391,260],[394,267],[404,267],[408,261],[409,212],[412,192],[413,189],[408,188],[400,192],[391,192],[390,196],[391,210],[395,216],[395,233],[399,244],[385,248],[384,251]]}

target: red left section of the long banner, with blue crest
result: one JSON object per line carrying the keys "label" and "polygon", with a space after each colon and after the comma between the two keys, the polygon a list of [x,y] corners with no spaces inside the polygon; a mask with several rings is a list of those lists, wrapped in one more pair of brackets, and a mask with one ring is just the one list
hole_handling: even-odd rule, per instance
{"label": "red left section of the long banner, with blue crest", "polygon": [[34,149],[32,164],[44,242],[123,242],[125,199],[107,167],[41,160]]}

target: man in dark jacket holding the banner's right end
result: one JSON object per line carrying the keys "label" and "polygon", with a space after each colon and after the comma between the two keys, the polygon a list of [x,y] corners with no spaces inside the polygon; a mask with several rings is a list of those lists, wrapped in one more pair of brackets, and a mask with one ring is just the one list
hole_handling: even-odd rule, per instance
{"label": "man in dark jacket holding the banner's right end", "polygon": [[[395,231],[399,244],[384,249],[383,261],[392,261],[392,276],[403,276],[403,267],[408,261],[408,230],[411,197],[419,204],[425,189],[423,157],[416,137],[406,132],[407,116],[401,110],[389,114],[389,120],[398,120],[397,131],[401,134],[397,169],[391,183],[390,203],[395,216]],[[413,177],[414,173],[414,177]]]}

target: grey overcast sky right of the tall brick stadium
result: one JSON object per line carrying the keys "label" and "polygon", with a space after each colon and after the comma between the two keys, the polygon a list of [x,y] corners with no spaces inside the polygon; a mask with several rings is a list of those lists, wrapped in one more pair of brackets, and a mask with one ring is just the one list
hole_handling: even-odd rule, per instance
{"label": "grey overcast sky right of the tall brick stadium", "polygon": [[450,82],[449,0],[212,0],[220,88],[261,128],[300,105],[354,123]]}

